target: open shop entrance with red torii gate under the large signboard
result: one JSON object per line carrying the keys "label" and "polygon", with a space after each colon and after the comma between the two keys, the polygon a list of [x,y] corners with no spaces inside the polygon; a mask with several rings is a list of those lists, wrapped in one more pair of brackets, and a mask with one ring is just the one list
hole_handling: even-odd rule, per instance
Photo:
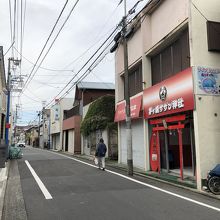
{"label": "open shop entrance with red torii gate under the large signboard", "polygon": [[195,176],[195,144],[192,117],[176,115],[150,120],[150,164],[153,171]]}

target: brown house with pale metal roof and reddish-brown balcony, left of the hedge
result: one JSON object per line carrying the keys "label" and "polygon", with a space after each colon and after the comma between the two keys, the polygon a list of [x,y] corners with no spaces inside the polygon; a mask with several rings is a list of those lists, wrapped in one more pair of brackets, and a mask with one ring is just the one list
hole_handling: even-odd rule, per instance
{"label": "brown house with pale metal roof and reddish-brown balcony, left of the hedge", "polygon": [[71,154],[87,154],[88,145],[80,134],[80,123],[85,115],[85,106],[104,95],[114,95],[114,84],[80,82],[76,85],[73,107],[64,111],[63,149]]}

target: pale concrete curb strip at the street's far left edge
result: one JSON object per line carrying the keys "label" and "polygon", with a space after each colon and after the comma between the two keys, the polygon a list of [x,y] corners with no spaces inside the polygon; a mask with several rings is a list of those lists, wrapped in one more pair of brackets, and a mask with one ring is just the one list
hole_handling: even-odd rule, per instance
{"label": "pale concrete curb strip at the street's far left edge", "polygon": [[10,161],[6,162],[5,168],[2,168],[0,171],[0,219],[2,219],[2,214],[3,214],[9,166],[10,166]]}

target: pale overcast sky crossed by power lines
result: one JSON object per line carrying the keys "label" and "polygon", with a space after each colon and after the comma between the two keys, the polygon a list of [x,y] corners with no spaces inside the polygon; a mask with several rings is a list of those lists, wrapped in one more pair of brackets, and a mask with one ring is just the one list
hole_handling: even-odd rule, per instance
{"label": "pale overcast sky crossed by power lines", "polygon": [[[20,5],[21,0],[17,1]],[[9,2],[13,7],[14,0],[0,1],[0,45],[3,46],[4,53],[6,53],[12,42]],[[22,2],[24,7],[25,0]],[[18,68],[16,74],[30,75],[33,63],[38,58],[65,2],[66,0],[26,0],[23,58],[21,70]],[[76,0],[69,0],[50,42],[56,36],[59,27],[75,2]],[[20,99],[16,98],[18,93],[13,93],[13,96],[15,96],[12,99],[13,110],[15,110],[16,104],[20,106],[18,124],[28,124],[29,121],[34,120],[37,116],[36,111],[42,109],[42,101],[49,103],[53,100],[73,77],[74,73],[83,66],[109,36],[124,14],[124,4],[118,6],[119,2],[120,0],[80,0],[78,2],[46,59],[41,64],[43,68],[66,71],[49,71],[39,68],[36,73],[33,72],[35,75]],[[137,0],[127,0],[127,9],[130,9],[136,2]],[[147,2],[148,0],[143,0],[137,10],[140,10]],[[18,27],[18,30],[20,30],[20,25]],[[19,51],[20,39],[20,31],[18,31],[14,46]],[[87,52],[85,53],[85,51]],[[11,50],[5,55],[6,70],[9,57],[12,57]],[[16,53],[15,49],[14,58],[20,59],[20,55]],[[114,75],[114,54],[108,54],[84,81],[114,83]],[[24,77],[24,81],[26,79],[27,77]],[[73,97],[73,91],[67,97]]]}

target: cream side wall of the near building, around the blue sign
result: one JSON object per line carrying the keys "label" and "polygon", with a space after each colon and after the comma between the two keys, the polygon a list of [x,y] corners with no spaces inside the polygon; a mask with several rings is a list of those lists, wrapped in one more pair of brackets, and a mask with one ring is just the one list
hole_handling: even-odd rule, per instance
{"label": "cream side wall of the near building, around the blue sign", "polygon": [[[220,69],[220,53],[208,51],[206,27],[206,19],[220,22],[220,1],[192,0],[192,3],[189,25],[191,66]],[[195,94],[195,104],[197,185],[200,189],[201,179],[205,179],[207,172],[220,162],[220,96]]]}

